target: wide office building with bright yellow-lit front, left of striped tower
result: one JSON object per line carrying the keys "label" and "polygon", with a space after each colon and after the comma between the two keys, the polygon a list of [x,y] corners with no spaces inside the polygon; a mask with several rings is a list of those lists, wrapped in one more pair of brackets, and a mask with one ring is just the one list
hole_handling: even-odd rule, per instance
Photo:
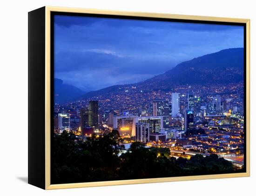
{"label": "wide office building with bright yellow-lit front, left of striped tower", "polygon": [[113,129],[117,129],[121,136],[135,136],[133,116],[114,116]]}

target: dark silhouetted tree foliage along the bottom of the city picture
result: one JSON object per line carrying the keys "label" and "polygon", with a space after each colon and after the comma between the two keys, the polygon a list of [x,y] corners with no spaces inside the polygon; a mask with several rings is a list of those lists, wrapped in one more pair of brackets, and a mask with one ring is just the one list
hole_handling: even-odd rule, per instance
{"label": "dark silhouetted tree foliage along the bottom of the city picture", "polygon": [[93,135],[79,141],[73,134],[54,135],[51,183],[78,183],[154,177],[174,177],[237,172],[217,155],[170,157],[168,148],[145,148],[134,142],[129,151],[119,154],[117,131]]}

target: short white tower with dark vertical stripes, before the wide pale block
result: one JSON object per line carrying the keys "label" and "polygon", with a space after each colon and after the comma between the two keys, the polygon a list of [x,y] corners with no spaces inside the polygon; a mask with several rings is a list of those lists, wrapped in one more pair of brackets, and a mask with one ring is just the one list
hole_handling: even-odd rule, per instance
{"label": "short white tower with dark vertical stripes, before the wide pale block", "polygon": [[136,123],[135,139],[144,143],[149,141],[149,124]]}

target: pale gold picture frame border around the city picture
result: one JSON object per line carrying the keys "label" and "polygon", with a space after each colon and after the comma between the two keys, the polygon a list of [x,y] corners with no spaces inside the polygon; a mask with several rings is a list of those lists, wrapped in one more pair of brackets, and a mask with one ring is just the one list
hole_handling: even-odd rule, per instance
{"label": "pale gold picture frame border around the city picture", "polygon": [[[32,11],[34,12],[34,11]],[[122,11],[109,11],[98,9],[83,9],[83,8],[68,8],[68,7],[44,7],[45,17],[45,80],[44,80],[44,137],[45,137],[45,183],[44,187],[36,185],[31,180],[29,183],[44,188],[46,190],[53,189],[66,189],[66,188],[80,188],[80,187],[95,187],[95,186],[109,186],[109,185],[123,185],[123,184],[136,184],[136,183],[161,183],[173,181],[186,181],[186,180],[203,180],[215,178],[229,178],[229,177],[249,177],[250,175],[250,20],[249,19],[235,19],[235,18],[222,18],[222,17],[209,17],[209,16],[191,16],[191,15],[178,15],[167,13],[143,13],[143,12],[122,12]],[[66,184],[51,184],[51,12],[64,12],[64,13],[89,13],[89,14],[104,14],[115,16],[133,16],[133,17],[147,17],[147,18],[161,18],[161,19],[185,19],[185,20],[199,20],[211,22],[229,22],[229,23],[243,23],[246,25],[246,172],[244,173],[230,173],[230,174],[214,174],[202,176],[183,176],[183,177],[162,177],[162,178],[149,178],[149,179],[133,179],[133,180],[116,180],[105,182],[88,182],[88,183],[66,183]],[[32,145],[32,144],[31,144]],[[32,171],[30,172],[32,173]]]}

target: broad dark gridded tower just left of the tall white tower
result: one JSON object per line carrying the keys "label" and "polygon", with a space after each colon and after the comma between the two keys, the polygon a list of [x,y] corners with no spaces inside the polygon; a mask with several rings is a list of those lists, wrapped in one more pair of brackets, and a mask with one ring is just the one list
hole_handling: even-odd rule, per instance
{"label": "broad dark gridded tower just left of the tall white tower", "polygon": [[169,101],[168,100],[155,100],[153,101],[153,116],[164,116],[163,126],[169,126]]}

